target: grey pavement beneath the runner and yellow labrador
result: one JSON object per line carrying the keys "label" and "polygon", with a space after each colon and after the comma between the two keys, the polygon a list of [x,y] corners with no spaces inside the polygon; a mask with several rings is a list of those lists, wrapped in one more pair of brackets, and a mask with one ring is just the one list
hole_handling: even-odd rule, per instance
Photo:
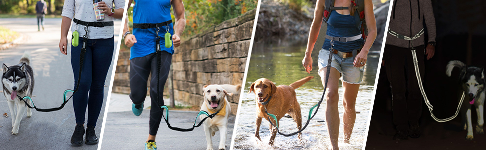
{"label": "grey pavement beneath the runner and yellow labrador", "polygon": [[[128,96],[124,101],[131,102]],[[132,111],[111,112],[112,108],[118,109],[110,100],[101,149],[143,149],[148,137],[150,109],[146,108],[140,116],[135,116]],[[189,128],[194,123],[197,113],[198,111],[169,110],[169,122],[172,126]],[[234,115],[229,116],[226,149],[229,149],[231,143],[234,117]],[[198,123],[199,121],[200,119],[197,119]],[[220,132],[217,131],[212,136],[214,149],[218,149],[219,134]],[[180,132],[169,129],[164,120],[160,122],[155,141],[157,149],[206,149],[207,147],[203,125],[193,131]]]}

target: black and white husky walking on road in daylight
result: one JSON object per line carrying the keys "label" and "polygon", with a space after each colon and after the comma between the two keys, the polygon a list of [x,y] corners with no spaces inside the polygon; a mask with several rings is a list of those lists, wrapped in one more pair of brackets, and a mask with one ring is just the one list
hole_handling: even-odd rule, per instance
{"label": "black and white husky walking on road in daylight", "polygon": [[[29,53],[24,53],[19,64],[7,66],[3,65],[4,74],[2,75],[2,84],[4,86],[4,95],[9,103],[10,115],[12,117],[12,134],[19,133],[19,126],[24,112],[27,109],[27,117],[32,116],[32,111],[27,105],[19,99],[19,96],[31,96],[34,89],[34,74],[32,67],[29,65]],[[28,101],[30,104],[30,101]],[[16,107],[17,104],[17,107]],[[15,112],[17,108],[17,112]]]}

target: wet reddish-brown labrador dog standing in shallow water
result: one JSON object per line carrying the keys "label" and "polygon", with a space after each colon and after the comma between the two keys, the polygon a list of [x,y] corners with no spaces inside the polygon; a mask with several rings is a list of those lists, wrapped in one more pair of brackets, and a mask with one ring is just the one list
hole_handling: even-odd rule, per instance
{"label": "wet reddish-brown labrador dog standing in shallow water", "polygon": [[[270,120],[268,121],[272,121],[273,124],[276,124],[286,113],[289,113],[297,123],[297,128],[301,129],[301,107],[299,102],[297,102],[295,89],[299,88],[312,78],[314,78],[314,76],[307,76],[290,85],[279,86],[275,86],[275,84],[267,78],[260,78],[253,82],[248,93],[253,91],[255,93],[255,101],[257,102],[257,130],[255,136],[258,139],[262,140],[259,133],[262,118],[267,120],[269,118],[267,113],[265,113],[265,107],[269,113],[274,114],[277,117],[277,122],[272,117],[270,117]],[[266,102],[268,103],[265,105],[262,104]],[[272,124],[270,124],[270,126],[272,128],[272,137],[270,138],[269,144],[273,145],[275,136],[277,135],[277,128],[272,126]],[[301,138],[301,133],[299,133],[298,137]]]}

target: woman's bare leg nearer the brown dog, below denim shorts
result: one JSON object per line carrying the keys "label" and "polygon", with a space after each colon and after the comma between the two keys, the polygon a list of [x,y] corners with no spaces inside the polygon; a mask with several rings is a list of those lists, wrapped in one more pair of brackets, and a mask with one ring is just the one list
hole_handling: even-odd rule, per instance
{"label": "woman's bare leg nearer the brown dog, below denim shorts", "polygon": [[[326,69],[324,67],[321,70],[321,81],[325,85],[326,81]],[[329,137],[331,138],[331,144],[334,150],[338,150],[338,137],[339,137],[339,111],[338,111],[338,101],[339,101],[339,76],[340,73],[335,68],[331,68],[329,74],[329,80],[326,89],[326,122],[327,128],[329,130]]]}

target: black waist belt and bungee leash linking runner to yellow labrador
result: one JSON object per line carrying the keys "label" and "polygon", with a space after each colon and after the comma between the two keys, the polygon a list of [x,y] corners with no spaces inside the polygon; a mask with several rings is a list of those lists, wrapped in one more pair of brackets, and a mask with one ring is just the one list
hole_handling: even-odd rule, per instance
{"label": "black waist belt and bungee leash linking runner to yellow labrador", "polygon": [[[165,21],[165,22],[161,22],[161,23],[133,23],[133,28],[141,28],[141,29],[148,29],[148,28],[156,28],[155,30],[155,55],[156,55],[156,59],[157,59],[157,107],[160,109],[160,111],[162,112],[162,117],[164,118],[164,121],[165,123],[167,124],[167,127],[169,127],[170,129],[172,130],[177,130],[177,131],[182,131],[182,132],[186,132],[186,131],[192,131],[194,130],[195,127],[199,127],[201,126],[201,124],[204,122],[204,120],[206,120],[207,118],[213,118],[214,116],[216,116],[216,114],[219,112],[219,110],[217,110],[216,112],[212,113],[212,114],[209,114],[208,112],[204,111],[204,110],[200,110],[199,113],[197,114],[195,120],[194,120],[194,124],[192,124],[192,127],[190,128],[180,128],[180,127],[175,127],[175,126],[172,126],[170,125],[169,123],[169,108],[167,107],[167,105],[160,105],[160,65],[161,65],[161,59],[162,59],[162,56],[161,56],[161,52],[162,50],[160,49],[160,36],[159,36],[159,31],[160,31],[160,27],[163,27],[165,26],[165,30],[166,30],[166,33],[164,35],[164,38],[165,38],[165,47],[166,48],[170,48],[172,46],[172,35],[170,34],[169,32],[169,24],[172,23],[172,20],[168,20],[168,21]],[[165,113],[167,114],[167,117],[165,117],[164,115],[164,109],[165,109]],[[197,118],[199,117],[199,115],[201,114],[204,114],[204,115],[207,115],[206,117],[202,118],[201,121],[199,121],[199,123],[197,123]],[[196,124],[197,123],[197,124]]]}

